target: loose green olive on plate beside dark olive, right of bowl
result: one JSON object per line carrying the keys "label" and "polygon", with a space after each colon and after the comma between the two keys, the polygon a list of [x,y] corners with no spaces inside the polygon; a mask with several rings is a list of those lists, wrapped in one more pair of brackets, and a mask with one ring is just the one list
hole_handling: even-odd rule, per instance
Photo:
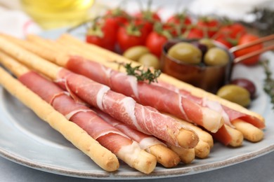
{"label": "loose green olive on plate beside dark olive, right of bowl", "polygon": [[224,85],[216,93],[219,97],[235,102],[241,106],[249,106],[251,99],[248,90],[238,85]]}

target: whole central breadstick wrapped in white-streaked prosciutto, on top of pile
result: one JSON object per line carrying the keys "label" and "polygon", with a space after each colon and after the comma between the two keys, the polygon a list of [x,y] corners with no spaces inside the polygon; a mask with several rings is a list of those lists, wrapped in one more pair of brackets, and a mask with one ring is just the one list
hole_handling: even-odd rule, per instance
{"label": "whole central breadstick wrapped in white-streaked prosciutto, on top of pile", "polygon": [[7,41],[6,38],[1,37],[0,42],[0,49],[4,52],[53,80],[63,81],[72,94],[77,94],[88,104],[105,111],[134,129],[152,134],[175,146],[194,148],[197,145],[199,141],[197,134],[178,123],[174,118],[164,116],[156,109],[137,104],[131,97],[113,92],[105,85],[56,66]]}

